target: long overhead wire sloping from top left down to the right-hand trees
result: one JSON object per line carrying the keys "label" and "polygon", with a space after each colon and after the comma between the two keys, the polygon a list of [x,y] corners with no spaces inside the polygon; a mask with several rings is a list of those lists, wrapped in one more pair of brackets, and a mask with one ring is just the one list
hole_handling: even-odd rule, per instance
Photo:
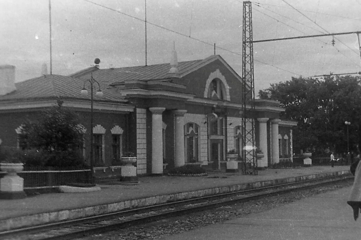
{"label": "long overhead wire sloping from top left down to the right-hand trees", "polygon": [[[94,5],[97,5],[97,6],[100,6],[100,7],[102,7],[102,8],[106,8],[106,9],[108,9],[108,10],[111,10],[111,11],[114,11],[114,12],[117,12],[117,13],[120,13],[120,14],[126,15],[127,17],[131,17],[131,18],[134,18],[134,19],[136,19],[136,20],[145,22],[145,20],[143,20],[143,19],[141,19],[141,18],[134,17],[134,16],[132,16],[132,15],[130,15],[130,14],[126,14],[126,13],[120,12],[120,11],[118,11],[118,10],[116,10],[116,9],[109,8],[109,7],[107,7],[107,6],[104,6],[104,5],[101,5],[101,4],[98,4],[98,3],[94,3],[94,2],[89,1],[89,0],[84,0],[84,1],[86,1],[86,2],[88,2],[88,3],[91,3],[91,4],[94,4]],[[152,23],[152,22],[149,22],[149,21],[147,21],[147,24],[153,25],[153,26],[155,26],[155,27],[161,28],[161,29],[166,30],[166,31],[173,32],[174,34],[178,34],[178,35],[181,35],[181,36],[184,36],[184,37],[188,37],[188,38],[190,38],[190,39],[192,39],[192,40],[196,40],[196,41],[198,41],[198,42],[200,42],[200,43],[204,43],[204,44],[206,44],[206,45],[214,46],[214,44],[212,44],[212,43],[208,43],[208,42],[206,42],[206,41],[203,41],[203,40],[200,40],[200,39],[196,39],[195,37],[191,37],[191,36],[188,36],[188,35],[186,35],[186,34],[182,34],[181,32],[177,32],[177,31],[171,30],[171,29],[169,29],[169,28],[166,28],[166,27],[157,25],[157,24]],[[237,53],[237,52],[234,52],[234,51],[231,51],[231,50],[222,48],[222,47],[220,47],[220,46],[217,46],[217,48],[218,48],[218,49],[221,49],[221,50],[224,50],[224,51],[226,51],[226,52],[233,53],[233,54],[235,54],[235,55],[242,56],[242,53]],[[264,64],[264,65],[268,65],[268,66],[277,68],[277,69],[279,69],[279,70],[283,70],[283,71],[289,72],[289,73],[291,73],[291,74],[295,74],[295,75],[301,76],[300,74],[297,74],[297,73],[295,73],[295,72],[288,71],[288,70],[283,69],[283,68],[280,68],[280,67],[276,67],[276,66],[274,66],[274,65],[272,65],[272,64],[268,64],[268,63],[265,63],[265,62],[261,62],[261,61],[256,60],[256,59],[254,59],[254,61],[260,62],[260,63],[262,63],[262,64]]]}

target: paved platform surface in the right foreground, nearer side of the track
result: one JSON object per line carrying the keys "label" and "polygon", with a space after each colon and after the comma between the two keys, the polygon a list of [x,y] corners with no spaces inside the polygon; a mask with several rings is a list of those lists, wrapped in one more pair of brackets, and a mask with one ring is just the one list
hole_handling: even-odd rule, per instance
{"label": "paved platform surface in the right foreground, nearer side of the track", "polygon": [[165,237],[227,240],[356,240],[361,219],[347,205],[351,187],[297,200],[261,213]]}

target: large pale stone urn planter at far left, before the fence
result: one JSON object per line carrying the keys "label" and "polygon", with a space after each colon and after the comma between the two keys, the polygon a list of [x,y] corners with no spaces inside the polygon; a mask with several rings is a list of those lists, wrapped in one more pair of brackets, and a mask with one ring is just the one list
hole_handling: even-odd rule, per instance
{"label": "large pale stone urn planter at far left, before the fence", "polygon": [[0,179],[0,198],[19,199],[26,197],[24,192],[24,179],[17,172],[24,169],[22,163],[0,163],[0,169],[6,175]]}

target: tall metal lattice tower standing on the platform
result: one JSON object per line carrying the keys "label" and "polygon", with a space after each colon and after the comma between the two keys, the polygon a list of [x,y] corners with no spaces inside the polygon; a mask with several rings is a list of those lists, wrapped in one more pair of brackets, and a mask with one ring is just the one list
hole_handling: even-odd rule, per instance
{"label": "tall metal lattice tower standing on the platform", "polygon": [[258,174],[255,152],[255,81],[253,75],[253,36],[251,1],[243,2],[242,44],[242,140],[243,174]]}

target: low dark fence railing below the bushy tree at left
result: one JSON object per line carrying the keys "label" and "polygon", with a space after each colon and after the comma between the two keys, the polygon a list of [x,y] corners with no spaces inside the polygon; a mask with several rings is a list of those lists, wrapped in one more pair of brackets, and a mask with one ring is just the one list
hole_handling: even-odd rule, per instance
{"label": "low dark fence railing below the bushy tree at left", "polygon": [[[0,172],[0,178],[6,173]],[[48,188],[68,183],[90,183],[90,169],[24,166],[18,175],[24,179],[24,189]]]}

